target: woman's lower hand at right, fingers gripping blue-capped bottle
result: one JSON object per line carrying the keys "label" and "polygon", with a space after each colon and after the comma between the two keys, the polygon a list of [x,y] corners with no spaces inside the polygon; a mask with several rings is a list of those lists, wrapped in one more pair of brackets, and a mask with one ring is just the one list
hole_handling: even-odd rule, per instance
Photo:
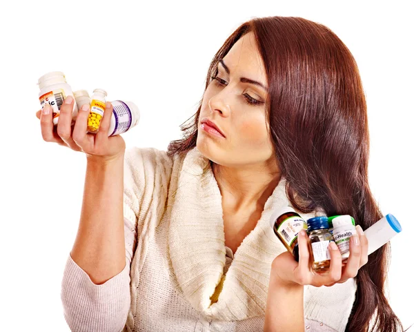
{"label": "woman's lower hand at right, fingers gripping blue-capped bottle", "polygon": [[[317,273],[312,268],[310,260],[311,244],[308,243],[308,235],[299,233],[299,263],[295,261],[289,252],[278,255],[272,263],[270,277],[277,281],[292,285],[333,286],[346,282],[357,275],[359,268],[368,262],[368,240],[360,226],[357,233],[350,241],[350,254],[348,262],[342,263],[342,255],[335,242],[331,242],[328,250],[331,254],[331,265],[328,271]],[[333,248],[331,247],[333,245]]]}

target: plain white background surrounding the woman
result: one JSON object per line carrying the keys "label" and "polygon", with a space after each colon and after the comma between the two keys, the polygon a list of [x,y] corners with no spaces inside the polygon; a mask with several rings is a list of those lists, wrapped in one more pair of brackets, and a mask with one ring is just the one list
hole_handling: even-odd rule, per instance
{"label": "plain white background surrounding the woman", "polygon": [[[17,331],[69,331],[61,277],[77,233],[86,160],[41,138],[37,79],[134,101],[127,148],[165,150],[196,111],[213,55],[253,17],[322,23],[353,53],[368,102],[370,183],[404,231],[392,243],[389,298],[413,315],[413,19],[408,1],[1,1],[1,318]],[[414,331],[414,327],[410,329]]]}

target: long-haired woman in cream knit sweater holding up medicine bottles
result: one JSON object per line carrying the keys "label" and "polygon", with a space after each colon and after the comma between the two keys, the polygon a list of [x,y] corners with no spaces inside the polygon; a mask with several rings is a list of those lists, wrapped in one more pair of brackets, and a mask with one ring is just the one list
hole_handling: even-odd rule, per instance
{"label": "long-haired woman in cream knit sweater holding up medicine bottles", "polygon": [[[364,91],[331,30],[297,17],[237,28],[168,152],[107,137],[110,103],[95,137],[88,112],[70,128],[66,101],[56,130],[50,113],[39,117],[43,139],[88,160],[61,293],[72,331],[356,332],[375,311],[375,331],[402,327],[384,296],[389,244],[368,260],[362,232],[382,217]],[[314,273],[306,235],[295,262],[268,226],[286,205],[306,218],[353,215],[348,263],[334,245],[330,271]]]}

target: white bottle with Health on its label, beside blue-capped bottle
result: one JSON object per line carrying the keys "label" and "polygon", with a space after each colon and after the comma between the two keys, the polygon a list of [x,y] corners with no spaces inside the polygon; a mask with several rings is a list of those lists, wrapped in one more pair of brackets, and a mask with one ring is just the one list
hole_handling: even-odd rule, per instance
{"label": "white bottle with Health on its label, beside blue-capped bottle", "polygon": [[342,255],[342,262],[346,263],[349,257],[349,241],[357,233],[351,215],[339,215],[332,219],[333,239]]}

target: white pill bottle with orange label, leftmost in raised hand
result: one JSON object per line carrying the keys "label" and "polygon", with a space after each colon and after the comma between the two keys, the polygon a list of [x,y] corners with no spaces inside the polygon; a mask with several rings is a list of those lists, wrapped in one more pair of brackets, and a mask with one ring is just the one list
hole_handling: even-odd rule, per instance
{"label": "white pill bottle with orange label, leftmost in raised hand", "polygon": [[[40,89],[40,106],[42,110],[46,104],[50,104],[50,106],[52,106],[52,121],[56,126],[59,121],[59,113],[63,100],[65,100],[68,96],[74,97],[72,89],[66,82],[66,77],[63,75],[63,72],[48,72],[46,75],[39,78],[37,85]],[[77,104],[74,103],[72,109],[72,124],[75,123],[77,113]]]}

